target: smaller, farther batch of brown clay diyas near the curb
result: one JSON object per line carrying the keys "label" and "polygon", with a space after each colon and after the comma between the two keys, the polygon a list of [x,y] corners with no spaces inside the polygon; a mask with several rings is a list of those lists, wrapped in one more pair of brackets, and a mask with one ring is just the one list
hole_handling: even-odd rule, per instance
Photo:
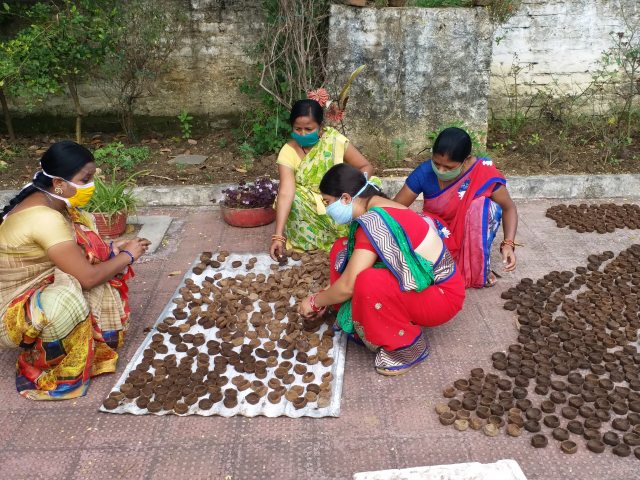
{"label": "smaller, farther batch of brown clay diyas near the curb", "polygon": [[556,221],[558,228],[569,227],[578,233],[613,233],[617,228],[640,228],[640,205],[554,205],[547,209],[547,217]]}

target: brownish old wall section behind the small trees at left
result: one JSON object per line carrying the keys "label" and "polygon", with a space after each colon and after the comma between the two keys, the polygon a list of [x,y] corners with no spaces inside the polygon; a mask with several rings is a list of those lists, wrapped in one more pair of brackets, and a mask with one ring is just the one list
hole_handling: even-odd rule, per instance
{"label": "brownish old wall section behind the small trees at left", "polygon": [[[138,113],[175,116],[186,109],[191,114],[226,120],[246,108],[239,86],[253,72],[247,52],[258,42],[263,25],[256,0],[160,0],[178,4],[188,19],[182,48],[171,60],[152,97],[139,102]],[[97,87],[82,86],[87,113],[109,109]],[[68,97],[50,99],[42,107],[50,114],[72,115]]]}

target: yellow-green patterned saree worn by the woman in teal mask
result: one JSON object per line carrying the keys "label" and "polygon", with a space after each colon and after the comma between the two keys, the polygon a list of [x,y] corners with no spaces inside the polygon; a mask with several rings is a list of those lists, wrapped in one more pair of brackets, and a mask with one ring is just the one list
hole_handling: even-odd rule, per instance
{"label": "yellow-green patterned saree worn by the woman in teal mask", "polygon": [[326,214],[319,186],[324,174],[343,162],[348,142],[336,129],[326,127],[295,170],[296,192],[284,229],[287,248],[328,251],[336,238],[347,234],[347,226],[337,225]]}

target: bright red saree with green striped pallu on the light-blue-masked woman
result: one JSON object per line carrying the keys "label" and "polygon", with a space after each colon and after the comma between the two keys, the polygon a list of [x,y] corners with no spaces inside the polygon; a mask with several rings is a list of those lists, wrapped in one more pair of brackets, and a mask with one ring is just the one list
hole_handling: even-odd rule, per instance
{"label": "bright red saree with green striped pallu on the light-blue-masked woman", "polygon": [[420,327],[451,320],[462,308],[465,289],[445,247],[431,264],[411,249],[399,224],[377,210],[382,209],[355,219],[349,238],[334,243],[330,280],[334,283],[346,268],[355,230],[363,228],[381,261],[358,274],[351,299],[339,306],[338,323],[370,350],[394,351],[412,345]]}

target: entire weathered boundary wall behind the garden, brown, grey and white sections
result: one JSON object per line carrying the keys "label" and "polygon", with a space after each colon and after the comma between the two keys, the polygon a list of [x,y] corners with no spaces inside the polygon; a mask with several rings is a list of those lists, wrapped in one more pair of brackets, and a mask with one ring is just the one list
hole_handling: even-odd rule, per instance
{"label": "entire weathered boundary wall behind the garden, brown, grey and white sections", "polygon": [[[189,25],[171,70],[155,95],[140,101],[139,112],[175,116],[186,109],[221,124],[236,119],[249,108],[239,85],[253,74],[247,51],[262,30],[260,1],[158,0],[159,8],[162,2],[183,8]],[[452,118],[484,130],[487,105],[499,110],[507,102],[505,81],[512,81],[514,61],[524,67],[521,93],[555,83],[560,91],[579,91],[611,45],[609,32],[621,29],[620,2],[630,20],[639,21],[638,0],[523,0],[495,32],[481,8],[334,5],[330,83],[341,85],[356,66],[367,64],[352,88],[348,133],[388,151],[394,138],[415,150],[428,129]],[[87,112],[108,109],[98,88],[85,86],[80,93]],[[48,100],[41,110],[73,115],[66,96]]]}

